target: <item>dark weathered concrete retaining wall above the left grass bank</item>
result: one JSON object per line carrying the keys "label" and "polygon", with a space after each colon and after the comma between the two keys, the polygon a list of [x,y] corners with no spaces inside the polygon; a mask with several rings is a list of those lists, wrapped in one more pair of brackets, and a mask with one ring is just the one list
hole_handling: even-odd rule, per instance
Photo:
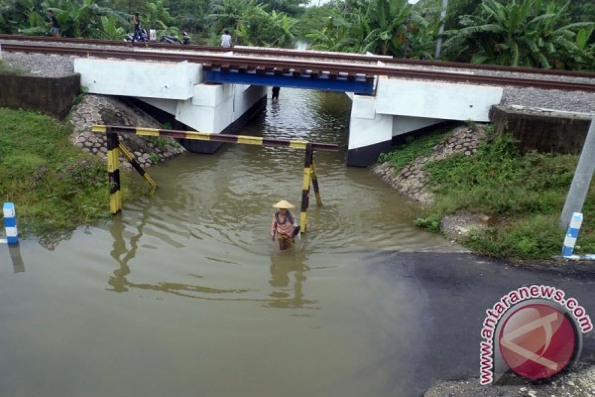
{"label": "dark weathered concrete retaining wall above the left grass bank", "polygon": [[0,74],[0,107],[64,118],[80,93],[80,74],[66,77]]}

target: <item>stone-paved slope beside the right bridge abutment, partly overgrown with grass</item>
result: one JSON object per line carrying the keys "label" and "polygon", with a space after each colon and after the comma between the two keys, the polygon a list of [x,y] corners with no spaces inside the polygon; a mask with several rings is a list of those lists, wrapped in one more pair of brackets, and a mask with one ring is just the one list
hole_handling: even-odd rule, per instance
{"label": "stone-paved slope beside the right bridge abutment, partly overgrown with grass", "polygon": [[374,173],[413,201],[421,205],[430,205],[434,200],[434,195],[428,186],[428,175],[424,170],[425,164],[457,153],[470,156],[477,152],[485,134],[483,126],[457,127],[442,142],[434,146],[430,155],[409,162],[402,170],[395,170],[389,161],[383,162],[374,167]]}

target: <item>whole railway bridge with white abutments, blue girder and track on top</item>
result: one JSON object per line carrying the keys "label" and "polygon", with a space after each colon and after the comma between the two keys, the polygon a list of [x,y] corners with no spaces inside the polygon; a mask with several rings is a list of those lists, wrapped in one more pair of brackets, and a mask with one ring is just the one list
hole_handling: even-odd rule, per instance
{"label": "whole railway bridge with white abutments, blue girder and track on top", "polygon": [[[125,47],[122,42],[55,37],[35,38],[34,44],[19,40],[33,39],[0,35],[4,51],[74,55],[74,70],[90,93],[134,97],[200,132],[237,132],[264,107],[268,86],[345,92],[352,99],[347,165],[358,166],[376,161],[399,135],[446,120],[489,121],[488,112],[500,103],[504,86],[595,92],[591,83],[477,73],[499,71],[497,66],[378,55],[159,43]],[[183,144],[193,152],[214,152],[220,145]]]}

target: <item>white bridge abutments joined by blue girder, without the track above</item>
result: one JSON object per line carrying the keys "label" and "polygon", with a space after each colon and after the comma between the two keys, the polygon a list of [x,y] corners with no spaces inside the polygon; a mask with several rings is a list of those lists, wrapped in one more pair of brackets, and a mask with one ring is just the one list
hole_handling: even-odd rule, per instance
{"label": "white bridge abutments joined by blue girder, without the track above", "polygon": [[[228,62],[236,65],[78,58],[74,67],[90,93],[132,96],[167,112],[190,130],[211,133],[236,133],[242,128],[265,107],[267,86],[349,93],[352,108],[346,163],[361,167],[374,164],[381,152],[390,151],[398,135],[446,120],[489,121],[490,107],[500,103],[503,93],[502,87],[459,80],[380,76],[374,82],[373,76],[359,76],[346,64],[337,65],[338,71],[331,68],[323,73],[310,71],[318,65],[312,62],[295,69],[284,66],[281,60],[261,60],[261,66],[242,66],[247,62],[244,58],[229,57]],[[183,144],[199,153],[213,153],[220,146],[197,142],[187,140]]]}

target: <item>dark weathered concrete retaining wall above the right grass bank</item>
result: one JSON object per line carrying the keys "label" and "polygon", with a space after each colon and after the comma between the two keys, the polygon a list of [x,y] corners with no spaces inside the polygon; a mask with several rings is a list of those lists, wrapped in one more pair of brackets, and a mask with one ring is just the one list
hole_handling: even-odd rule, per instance
{"label": "dark weathered concrete retaining wall above the right grass bank", "polygon": [[580,154],[591,115],[496,105],[490,120],[496,133],[508,131],[518,139],[522,153]]}

